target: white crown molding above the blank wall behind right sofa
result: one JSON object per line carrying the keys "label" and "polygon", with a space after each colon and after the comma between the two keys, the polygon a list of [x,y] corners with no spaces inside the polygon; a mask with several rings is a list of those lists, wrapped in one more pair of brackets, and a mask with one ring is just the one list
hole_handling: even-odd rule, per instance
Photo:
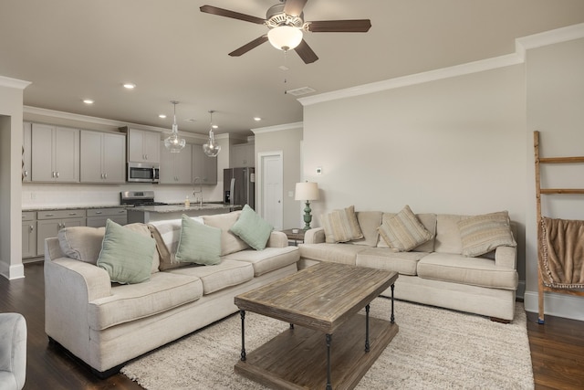
{"label": "white crown molding above the blank wall behind right sofa", "polygon": [[516,38],[515,53],[494,58],[485,58],[461,65],[454,65],[453,67],[448,68],[434,69],[427,72],[416,73],[395,79],[372,82],[370,84],[364,84],[344,90],[334,90],[314,96],[308,96],[306,98],[300,98],[298,101],[303,106],[309,106],[330,100],[339,100],[380,92],[382,90],[393,90],[397,88],[408,87],[429,81],[435,81],[438,79],[449,79],[471,73],[478,73],[485,70],[505,68],[524,63],[526,59],[526,51],[530,48],[566,42],[568,40],[578,39],[581,37],[584,37],[584,23],[561,27],[555,30],[546,31],[527,37]]}

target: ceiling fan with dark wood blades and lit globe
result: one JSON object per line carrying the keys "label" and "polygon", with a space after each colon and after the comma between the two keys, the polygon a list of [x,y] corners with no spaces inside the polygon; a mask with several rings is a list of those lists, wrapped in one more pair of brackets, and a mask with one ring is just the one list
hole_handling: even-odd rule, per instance
{"label": "ceiling fan with dark wood blades and lit globe", "polygon": [[244,20],[258,25],[265,25],[269,28],[267,34],[255,38],[253,41],[242,47],[236,48],[229,53],[232,57],[239,57],[247,53],[254,47],[258,47],[268,41],[280,50],[294,49],[298,56],[306,64],[310,64],[318,59],[318,56],[304,40],[303,31],[312,33],[365,33],[371,26],[370,19],[353,20],[320,20],[305,22],[302,9],[308,0],[280,0],[281,4],[272,5],[266,12],[266,19],[261,17],[240,14],[213,5],[203,5],[201,12],[217,16],[231,17],[233,19]]}

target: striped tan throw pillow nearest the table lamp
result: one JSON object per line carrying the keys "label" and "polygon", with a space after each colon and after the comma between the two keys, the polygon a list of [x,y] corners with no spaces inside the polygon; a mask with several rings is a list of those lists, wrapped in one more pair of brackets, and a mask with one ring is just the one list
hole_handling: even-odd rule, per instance
{"label": "striped tan throw pillow nearest the table lamp", "polygon": [[355,206],[333,210],[320,216],[320,223],[325,229],[325,239],[329,244],[347,242],[363,237],[359,221],[355,215]]}

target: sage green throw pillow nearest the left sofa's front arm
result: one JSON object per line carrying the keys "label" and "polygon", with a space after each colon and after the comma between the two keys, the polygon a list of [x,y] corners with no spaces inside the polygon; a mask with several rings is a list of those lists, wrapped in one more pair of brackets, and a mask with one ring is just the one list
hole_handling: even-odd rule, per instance
{"label": "sage green throw pillow nearest the left sofa's front arm", "polygon": [[154,250],[153,238],[108,219],[97,265],[108,271],[113,282],[141,283],[150,279]]}

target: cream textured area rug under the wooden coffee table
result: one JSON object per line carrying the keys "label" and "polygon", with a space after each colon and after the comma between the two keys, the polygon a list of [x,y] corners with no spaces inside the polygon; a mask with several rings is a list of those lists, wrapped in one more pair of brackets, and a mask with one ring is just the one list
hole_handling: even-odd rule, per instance
{"label": "cream textured area rug under the wooden coffee table", "polygon": [[[387,319],[391,300],[377,298],[370,308],[371,316]],[[400,331],[357,389],[534,388],[521,303],[515,320],[503,324],[396,300],[395,321]],[[245,349],[253,351],[287,328],[287,323],[247,312]],[[240,348],[241,320],[233,315],[142,356],[121,372],[149,390],[265,389],[234,373]]]}

